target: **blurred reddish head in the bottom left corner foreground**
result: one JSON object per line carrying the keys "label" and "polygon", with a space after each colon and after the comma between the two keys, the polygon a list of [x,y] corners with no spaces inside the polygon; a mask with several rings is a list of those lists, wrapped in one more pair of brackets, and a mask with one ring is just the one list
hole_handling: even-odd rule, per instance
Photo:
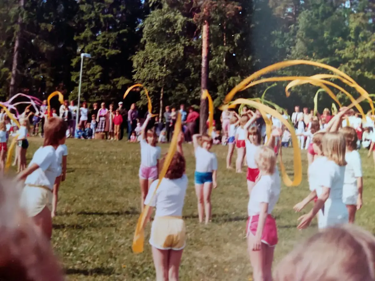
{"label": "blurred reddish head in the bottom left corner foreground", "polygon": [[64,280],[49,241],[20,208],[15,185],[0,179],[0,280]]}

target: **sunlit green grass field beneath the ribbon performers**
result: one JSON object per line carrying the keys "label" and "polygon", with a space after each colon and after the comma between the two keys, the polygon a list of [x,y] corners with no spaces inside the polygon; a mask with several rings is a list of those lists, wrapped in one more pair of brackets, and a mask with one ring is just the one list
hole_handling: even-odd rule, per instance
{"label": "sunlit green grass field beneath the ribbon performers", "polygon": [[[40,138],[30,139],[28,161],[41,143]],[[69,139],[67,145],[68,174],[66,182],[60,186],[52,244],[68,279],[154,280],[150,245],[146,242],[142,254],[135,255],[131,250],[140,205],[139,144]],[[162,152],[167,149],[167,145],[162,146]],[[213,151],[219,160],[218,187],[212,195],[213,220],[205,226],[198,224],[197,218],[192,146],[184,145],[189,188],[183,214],[188,244],[182,258],[180,280],[251,280],[245,239],[246,175],[225,169],[226,147],[214,146]],[[357,214],[357,224],[374,233],[374,163],[372,158],[366,157],[366,152],[361,151],[365,175],[364,206]],[[292,150],[284,149],[283,155],[285,165],[292,173]],[[302,156],[302,184],[299,187],[283,186],[273,212],[279,229],[274,264],[301,239],[317,230],[316,221],[308,230],[297,230],[299,214],[292,209],[308,194],[305,152]],[[149,231],[150,226],[145,232],[146,241]]]}

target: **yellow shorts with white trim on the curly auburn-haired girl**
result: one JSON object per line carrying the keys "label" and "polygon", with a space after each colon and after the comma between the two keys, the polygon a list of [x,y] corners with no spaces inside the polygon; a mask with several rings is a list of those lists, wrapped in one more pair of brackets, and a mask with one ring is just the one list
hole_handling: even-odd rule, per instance
{"label": "yellow shorts with white trim on the curly auburn-haired girl", "polygon": [[185,223],[179,217],[155,217],[151,226],[151,246],[159,250],[182,250],[186,245]]}

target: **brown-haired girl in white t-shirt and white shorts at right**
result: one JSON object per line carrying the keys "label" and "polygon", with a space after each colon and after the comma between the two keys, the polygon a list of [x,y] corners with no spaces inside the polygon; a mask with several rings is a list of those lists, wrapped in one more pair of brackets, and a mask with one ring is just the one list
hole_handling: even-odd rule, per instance
{"label": "brown-haired girl in white t-shirt and white shorts at right", "polygon": [[357,132],[353,127],[344,127],[339,130],[344,135],[346,147],[344,188],[342,190],[342,201],[347,205],[349,223],[354,223],[356,211],[362,208],[362,164],[361,156],[357,151]]}

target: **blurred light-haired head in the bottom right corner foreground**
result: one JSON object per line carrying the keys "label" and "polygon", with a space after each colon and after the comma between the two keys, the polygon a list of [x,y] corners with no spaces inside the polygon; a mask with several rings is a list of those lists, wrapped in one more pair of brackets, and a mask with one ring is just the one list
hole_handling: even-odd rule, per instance
{"label": "blurred light-haired head in the bottom right corner foreground", "polygon": [[374,280],[375,237],[353,225],[327,228],[276,267],[275,281]]}

